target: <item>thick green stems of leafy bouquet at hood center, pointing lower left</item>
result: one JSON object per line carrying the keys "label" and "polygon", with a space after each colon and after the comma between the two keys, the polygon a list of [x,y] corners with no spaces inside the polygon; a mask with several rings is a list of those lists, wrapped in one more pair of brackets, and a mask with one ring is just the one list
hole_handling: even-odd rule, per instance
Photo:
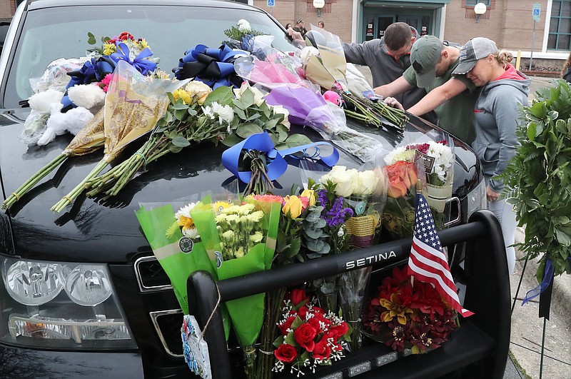
{"label": "thick green stems of leafy bouquet at hood center, pointing lower left", "polygon": [[100,193],[105,193],[104,198],[116,196],[148,163],[168,153],[178,153],[191,143],[216,138],[226,131],[226,126],[221,125],[217,119],[211,120],[207,116],[196,117],[196,114],[197,112],[189,107],[188,116],[182,120],[175,119],[166,125],[159,121],[146,143],[136,153],[86,183],[86,188],[89,189],[87,196],[94,197]]}

